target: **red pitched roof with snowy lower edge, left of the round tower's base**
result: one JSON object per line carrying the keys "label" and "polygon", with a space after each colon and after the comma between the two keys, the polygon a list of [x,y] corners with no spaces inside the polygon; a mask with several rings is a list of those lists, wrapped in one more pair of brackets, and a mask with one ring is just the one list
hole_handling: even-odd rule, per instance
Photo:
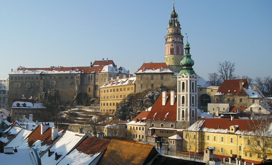
{"label": "red pitched roof with snowy lower edge, left of the round tower's base", "polygon": [[[142,71],[144,69],[144,72]],[[162,70],[160,70],[162,69]],[[143,65],[135,72],[137,73],[173,73],[166,63],[143,63]]]}

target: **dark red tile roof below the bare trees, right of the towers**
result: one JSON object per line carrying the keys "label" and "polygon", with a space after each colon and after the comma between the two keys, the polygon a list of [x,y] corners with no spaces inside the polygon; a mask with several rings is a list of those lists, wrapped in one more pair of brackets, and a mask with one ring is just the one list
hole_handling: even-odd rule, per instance
{"label": "dark red tile roof below the bare trees, right of the towers", "polygon": [[224,82],[218,89],[217,93],[221,93],[223,95],[248,95],[247,92],[245,92],[243,88],[241,88],[240,90],[240,86],[239,86],[240,80],[242,81],[242,84],[243,84],[242,87],[245,89],[248,89],[247,79],[230,79],[230,80],[224,80]]}

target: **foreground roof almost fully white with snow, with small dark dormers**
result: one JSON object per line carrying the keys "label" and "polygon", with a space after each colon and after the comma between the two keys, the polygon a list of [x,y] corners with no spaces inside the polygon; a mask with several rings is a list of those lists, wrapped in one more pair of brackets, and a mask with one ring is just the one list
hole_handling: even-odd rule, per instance
{"label": "foreground roof almost fully white with snow, with small dark dormers", "polygon": [[[63,136],[50,148],[53,154],[48,157],[44,154],[41,157],[43,164],[57,164],[83,137],[85,134],[80,134],[66,130]],[[61,154],[58,160],[55,160],[55,154]]]}

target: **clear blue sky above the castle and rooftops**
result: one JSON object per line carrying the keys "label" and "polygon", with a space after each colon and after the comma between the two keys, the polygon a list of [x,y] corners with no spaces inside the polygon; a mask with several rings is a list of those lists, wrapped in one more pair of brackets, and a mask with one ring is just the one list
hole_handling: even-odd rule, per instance
{"label": "clear blue sky above the castle and rooftops", "polygon": [[[89,66],[113,59],[134,73],[164,62],[172,1],[0,1],[0,77],[11,68]],[[207,79],[219,61],[235,74],[272,76],[272,1],[176,1],[196,73]]]}

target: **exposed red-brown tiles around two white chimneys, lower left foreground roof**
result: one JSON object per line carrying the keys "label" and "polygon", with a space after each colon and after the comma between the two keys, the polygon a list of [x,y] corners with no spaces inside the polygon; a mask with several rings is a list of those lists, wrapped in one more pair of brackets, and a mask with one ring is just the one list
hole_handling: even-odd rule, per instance
{"label": "exposed red-brown tiles around two white chimneys, lower left foreground roof", "polygon": [[[31,147],[37,140],[43,141],[41,145],[51,145],[53,144],[53,141],[51,140],[51,128],[48,128],[42,135],[40,134],[40,128],[41,126],[39,125],[31,134],[28,135],[28,146]],[[59,129],[61,131],[63,129]],[[57,138],[55,139],[57,140]],[[54,141],[55,141],[54,140]]]}

